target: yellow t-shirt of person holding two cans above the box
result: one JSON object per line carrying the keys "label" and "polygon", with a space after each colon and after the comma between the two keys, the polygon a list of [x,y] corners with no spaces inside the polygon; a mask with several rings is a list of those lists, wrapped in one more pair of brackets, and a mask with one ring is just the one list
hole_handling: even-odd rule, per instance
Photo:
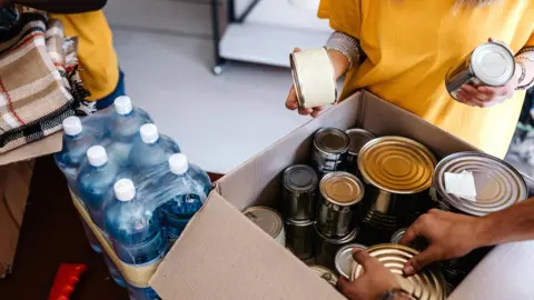
{"label": "yellow t-shirt of person holding two cans above the box", "polygon": [[[490,37],[517,52],[534,44],[534,1],[455,10],[454,0],[322,0],[319,18],[359,39],[367,59],[348,71],[342,98],[367,88],[481,150],[503,158],[524,92],[491,108],[455,101],[445,74]],[[379,116],[377,116],[379,117]]]}

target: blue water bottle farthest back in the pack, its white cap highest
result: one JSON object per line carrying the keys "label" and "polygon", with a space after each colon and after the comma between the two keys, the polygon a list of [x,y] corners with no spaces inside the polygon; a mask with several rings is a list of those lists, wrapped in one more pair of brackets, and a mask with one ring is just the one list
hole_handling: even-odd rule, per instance
{"label": "blue water bottle farthest back in the pack, its white cap highest", "polygon": [[142,109],[134,108],[131,99],[127,96],[115,100],[115,111],[108,124],[109,143],[106,148],[115,161],[126,166],[139,128],[145,123],[151,123],[152,120]]}

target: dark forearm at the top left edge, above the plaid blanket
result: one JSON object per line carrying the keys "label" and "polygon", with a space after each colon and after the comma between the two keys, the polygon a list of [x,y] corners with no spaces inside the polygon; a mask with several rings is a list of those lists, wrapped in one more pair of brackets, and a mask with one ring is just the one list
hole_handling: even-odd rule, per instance
{"label": "dark forearm at the top left edge, above the plaid blanket", "polygon": [[100,10],[106,6],[107,0],[14,0],[3,2],[14,2],[52,13],[79,13]]}

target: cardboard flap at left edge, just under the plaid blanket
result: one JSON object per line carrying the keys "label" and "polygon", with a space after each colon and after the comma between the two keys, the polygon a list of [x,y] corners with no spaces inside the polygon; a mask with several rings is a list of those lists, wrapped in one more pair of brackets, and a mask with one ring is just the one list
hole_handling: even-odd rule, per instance
{"label": "cardboard flap at left edge, just under the plaid blanket", "polygon": [[59,131],[42,140],[24,144],[7,153],[0,154],[0,166],[56,153],[61,150],[61,137],[62,131]]}

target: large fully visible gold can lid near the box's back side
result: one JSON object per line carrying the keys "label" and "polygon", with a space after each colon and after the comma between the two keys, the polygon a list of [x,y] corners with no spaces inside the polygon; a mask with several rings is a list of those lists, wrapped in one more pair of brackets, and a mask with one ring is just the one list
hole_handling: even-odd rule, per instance
{"label": "large fully visible gold can lid near the box's back side", "polygon": [[365,181],[393,193],[428,189],[436,158],[423,144],[403,137],[376,138],[362,148],[358,168]]}

